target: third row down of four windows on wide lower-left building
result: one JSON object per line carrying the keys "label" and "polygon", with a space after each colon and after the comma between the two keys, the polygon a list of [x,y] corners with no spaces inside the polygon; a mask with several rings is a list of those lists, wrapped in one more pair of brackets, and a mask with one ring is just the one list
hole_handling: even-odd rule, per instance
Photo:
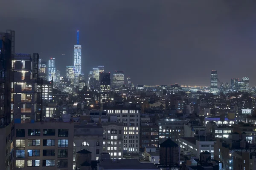
{"label": "third row down of four windows on wide lower-left building", "polygon": [[[27,150],[27,156],[40,156],[40,150]],[[55,150],[43,150],[43,156],[55,156]],[[58,158],[66,158],[68,150],[58,150]],[[16,158],[25,158],[25,150],[16,150]]]}

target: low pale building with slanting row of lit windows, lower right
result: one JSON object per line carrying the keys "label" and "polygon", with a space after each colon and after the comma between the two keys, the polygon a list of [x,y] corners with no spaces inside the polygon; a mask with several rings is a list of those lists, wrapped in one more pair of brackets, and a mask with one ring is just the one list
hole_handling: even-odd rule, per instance
{"label": "low pale building with slanting row of lit windows, lower right", "polygon": [[193,153],[197,158],[199,158],[200,153],[207,151],[212,154],[214,153],[214,142],[206,137],[181,137],[179,138],[180,150],[183,151],[184,155],[187,153]]}

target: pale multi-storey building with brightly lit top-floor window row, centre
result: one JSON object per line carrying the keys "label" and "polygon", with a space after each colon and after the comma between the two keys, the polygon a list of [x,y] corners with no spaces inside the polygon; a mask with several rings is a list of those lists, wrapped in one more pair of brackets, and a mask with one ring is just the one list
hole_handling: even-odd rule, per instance
{"label": "pale multi-storey building with brightly lit top-floor window row, centre", "polygon": [[124,124],[124,151],[138,153],[140,148],[140,108],[105,108],[107,115],[116,115]]}

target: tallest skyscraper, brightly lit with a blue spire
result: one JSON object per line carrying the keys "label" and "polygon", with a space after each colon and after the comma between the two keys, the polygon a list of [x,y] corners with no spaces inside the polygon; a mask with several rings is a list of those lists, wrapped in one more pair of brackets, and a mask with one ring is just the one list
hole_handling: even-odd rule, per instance
{"label": "tallest skyscraper, brightly lit with a blue spire", "polygon": [[78,83],[78,77],[81,74],[81,45],[79,45],[79,30],[77,30],[77,44],[74,46],[74,66],[75,81]]}

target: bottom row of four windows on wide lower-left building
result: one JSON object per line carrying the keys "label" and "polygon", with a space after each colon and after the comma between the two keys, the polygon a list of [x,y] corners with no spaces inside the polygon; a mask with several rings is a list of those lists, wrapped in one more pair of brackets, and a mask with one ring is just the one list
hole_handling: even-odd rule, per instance
{"label": "bottom row of four windows on wide lower-left building", "polygon": [[[58,159],[57,160],[57,167],[67,167],[67,159]],[[39,167],[40,166],[40,160],[28,160],[27,161],[28,167]],[[54,167],[55,166],[55,160],[54,159],[46,159],[42,161],[43,167]],[[25,167],[25,160],[16,160],[15,162],[16,168],[24,168]]]}

